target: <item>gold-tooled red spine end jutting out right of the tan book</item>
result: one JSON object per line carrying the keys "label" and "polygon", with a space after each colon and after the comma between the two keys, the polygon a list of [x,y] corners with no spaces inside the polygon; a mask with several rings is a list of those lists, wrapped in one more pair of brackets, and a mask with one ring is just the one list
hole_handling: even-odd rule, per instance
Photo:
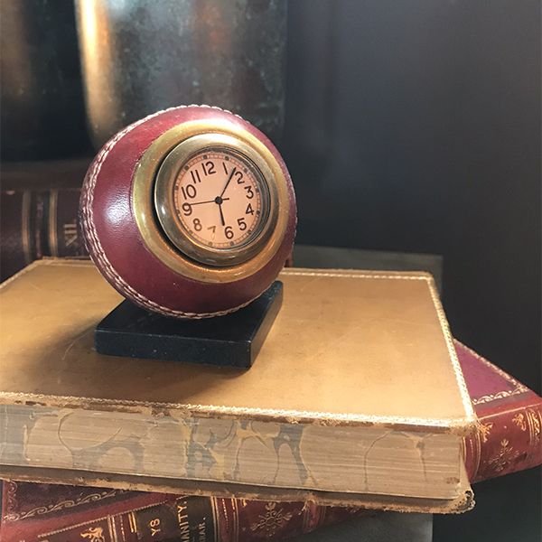
{"label": "gold-tooled red spine end jutting out right of the tan book", "polygon": [[471,482],[524,471],[542,463],[542,399],[529,397],[508,407],[476,406],[479,429],[463,441]]}

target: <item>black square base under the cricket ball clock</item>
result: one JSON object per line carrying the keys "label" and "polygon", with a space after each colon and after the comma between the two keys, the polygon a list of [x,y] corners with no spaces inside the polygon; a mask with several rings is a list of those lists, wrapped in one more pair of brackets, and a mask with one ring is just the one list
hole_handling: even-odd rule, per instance
{"label": "black square base under the cricket ball clock", "polygon": [[112,356],[248,368],[282,299],[283,285],[276,281],[236,313],[203,320],[166,318],[124,301],[98,323],[94,343],[100,354]]}

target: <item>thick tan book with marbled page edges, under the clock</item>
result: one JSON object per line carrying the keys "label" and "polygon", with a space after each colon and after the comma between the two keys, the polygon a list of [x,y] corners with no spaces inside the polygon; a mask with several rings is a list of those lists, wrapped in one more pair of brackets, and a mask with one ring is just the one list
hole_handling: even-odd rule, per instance
{"label": "thick tan book with marbled page edges, under the clock", "polygon": [[[6,281],[0,476],[471,506],[461,436],[475,416],[431,276],[291,268],[279,278],[283,307],[249,370],[99,355],[94,327],[121,298],[90,262],[42,260]],[[363,462],[343,469],[343,487],[322,465],[348,460],[352,443]],[[188,462],[194,446],[208,463]],[[378,462],[397,448],[415,474],[405,494],[388,494]],[[453,476],[435,498],[444,471]]]}

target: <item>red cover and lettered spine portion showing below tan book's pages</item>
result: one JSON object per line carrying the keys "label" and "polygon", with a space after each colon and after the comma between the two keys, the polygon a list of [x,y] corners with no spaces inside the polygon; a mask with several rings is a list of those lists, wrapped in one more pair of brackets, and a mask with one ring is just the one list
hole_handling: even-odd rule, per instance
{"label": "red cover and lettered spine portion showing below tan book's pages", "polygon": [[7,481],[0,540],[272,541],[373,514],[313,502],[183,497]]}

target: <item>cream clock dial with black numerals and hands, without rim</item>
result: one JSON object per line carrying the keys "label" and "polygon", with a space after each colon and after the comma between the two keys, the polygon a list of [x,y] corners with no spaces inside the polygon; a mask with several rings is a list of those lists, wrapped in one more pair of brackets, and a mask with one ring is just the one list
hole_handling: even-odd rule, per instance
{"label": "cream clock dial with black numerals and hands, without rim", "polygon": [[226,148],[204,149],[182,165],[173,184],[174,208],[188,238],[231,250],[260,233],[265,192],[262,174],[245,156]]}

